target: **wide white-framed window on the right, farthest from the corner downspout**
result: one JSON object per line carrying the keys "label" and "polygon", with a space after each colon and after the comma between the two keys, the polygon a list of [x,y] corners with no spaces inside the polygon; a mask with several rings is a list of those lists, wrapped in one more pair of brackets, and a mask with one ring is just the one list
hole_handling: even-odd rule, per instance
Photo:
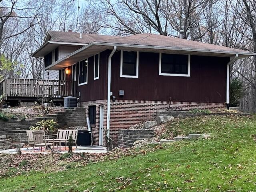
{"label": "wide white-framed window on the right, farthest from the corner downspout", "polygon": [[190,55],[160,53],[159,75],[190,76]]}

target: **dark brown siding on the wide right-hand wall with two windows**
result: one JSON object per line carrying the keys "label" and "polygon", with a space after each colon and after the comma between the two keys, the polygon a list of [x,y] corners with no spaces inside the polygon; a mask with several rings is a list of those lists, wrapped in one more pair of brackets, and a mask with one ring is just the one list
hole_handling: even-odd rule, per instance
{"label": "dark brown siding on the wide right-hand wall with two windows", "polygon": [[[226,102],[229,58],[190,57],[190,77],[159,76],[159,54],[139,53],[139,78],[120,78],[120,52],[112,57],[111,90],[117,99]],[[124,90],[119,97],[118,91]]]}

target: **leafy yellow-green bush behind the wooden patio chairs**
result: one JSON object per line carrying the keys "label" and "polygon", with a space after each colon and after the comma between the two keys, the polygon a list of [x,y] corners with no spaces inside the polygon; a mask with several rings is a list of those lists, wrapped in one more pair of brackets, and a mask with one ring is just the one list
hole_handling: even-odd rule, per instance
{"label": "leafy yellow-green bush behind the wooden patio chairs", "polygon": [[58,122],[51,120],[42,120],[36,123],[36,125],[31,126],[30,130],[40,130],[48,132],[56,132],[57,128],[56,125],[58,125]]}

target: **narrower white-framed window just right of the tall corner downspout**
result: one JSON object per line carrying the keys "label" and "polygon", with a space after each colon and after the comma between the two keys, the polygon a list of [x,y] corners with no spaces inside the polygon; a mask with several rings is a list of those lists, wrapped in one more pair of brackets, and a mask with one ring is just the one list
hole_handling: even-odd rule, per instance
{"label": "narrower white-framed window just right of the tall corner downspout", "polygon": [[120,77],[138,78],[139,52],[121,50]]}

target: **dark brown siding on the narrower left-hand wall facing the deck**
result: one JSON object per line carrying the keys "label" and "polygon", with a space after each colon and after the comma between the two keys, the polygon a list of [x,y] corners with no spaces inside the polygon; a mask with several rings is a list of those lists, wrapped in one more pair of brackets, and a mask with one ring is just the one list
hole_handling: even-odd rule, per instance
{"label": "dark brown siding on the narrower left-hand wall facing the deck", "polygon": [[[100,78],[94,80],[94,56],[88,58],[88,83],[82,86],[77,86],[78,92],[81,93],[81,102],[102,100],[107,98],[107,61],[108,50],[100,53]],[[78,85],[78,70],[79,65],[76,67],[76,80]]]}

